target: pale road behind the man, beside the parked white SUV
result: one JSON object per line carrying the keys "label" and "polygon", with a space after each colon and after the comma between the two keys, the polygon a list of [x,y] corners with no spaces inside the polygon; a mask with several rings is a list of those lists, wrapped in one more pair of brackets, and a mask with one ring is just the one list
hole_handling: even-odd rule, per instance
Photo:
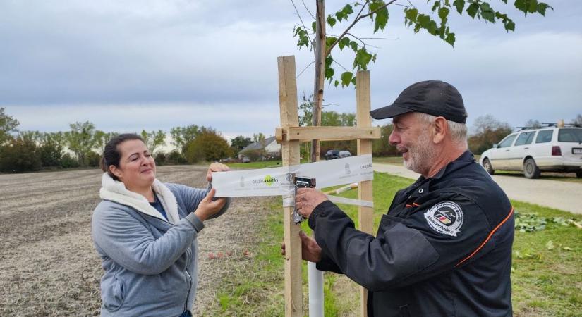
{"label": "pale road behind the man, beside the parked white SUV", "polygon": [[[420,175],[404,166],[374,163],[374,170],[416,179]],[[559,180],[530,180],[522,175],[493,175],[510,199],[526,201],[571,213],[582,213],[582,184]]]}

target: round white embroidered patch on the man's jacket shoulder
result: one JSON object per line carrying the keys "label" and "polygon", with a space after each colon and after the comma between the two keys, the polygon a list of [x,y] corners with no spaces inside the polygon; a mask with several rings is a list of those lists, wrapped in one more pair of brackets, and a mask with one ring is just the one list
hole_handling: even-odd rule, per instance
{"label": "round white embroidered patch on the man's jacket shoulder", "polygon": [[452,201],[443,201],[425,212],[426,222],[433,230],[456,237],[463,225],[463,211]]}

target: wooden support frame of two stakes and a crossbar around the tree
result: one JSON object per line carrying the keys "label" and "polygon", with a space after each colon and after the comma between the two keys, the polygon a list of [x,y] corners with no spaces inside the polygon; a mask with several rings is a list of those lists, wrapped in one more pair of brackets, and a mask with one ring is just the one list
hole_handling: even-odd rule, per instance
{"label": "wooden support frame of two stakes and a crossbar around the tree", "polygon": [[[279,112],[281,128],[276,130],[277,142],[281,143],[283,166],[299,163],[299,144],[302,141],[357,139],[358,155],[372,154],[372,139],[380,138],[380,128],[372,128],[370,117],[370,72],[356,75],[357,127],[299,127],[297,83],[294,56],[277,58],[279,68]],[[360,182],[358,199],[373,201],[372,181]],[[285,316],[303,316],[303,276],[301,274],[301,239],[299,225],[291,219],[292,207],[283,207],[285,240]],[[359,229],[372,234],[373,209],[360,206]],[[367,317],[368,291],[360,291],[360,312]]]}

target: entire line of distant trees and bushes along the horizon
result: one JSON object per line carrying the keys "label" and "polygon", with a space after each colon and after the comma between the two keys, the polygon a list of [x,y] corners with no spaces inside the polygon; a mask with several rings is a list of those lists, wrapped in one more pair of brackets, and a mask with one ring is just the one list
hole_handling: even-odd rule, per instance
{"label": "entire line of distant trees and bushes along the horizon", "polygon": [[[311,101],[303,95],[299,106],[299,125],[311,123]],[[582,115],[578,114],[571,123],[582,125]],[[20,131],[20,123],[16,118],[4,113],[0,108],[0,172],[19,173],[41,169],[80,168],[99,166],[99,161],[105,144],[118,133],[97,130],[89,121],[71,123],[71,130],[64,132]],[[337,111],[322,111],[322,125],[325,126],[355,126],[356,113],[338,113]],[[528,120],[525,126],[536,128],[541,123]],[[389,136],[394,126],[387,123],[380,126],[381,137],[372,142],[374,156],[397,156],[396,147],[389,144]],[[490,149],[493,144],[509,135],[513,129],[509,123],[497,120],[491,115],[475,119],[469,130],[468,146],[474,154],[481,154]],[[232,158],[253,142],[258,142],[264,148],[265,135],[256,133],[253,137],[238,135],[229,142],[220,132],[210,127],[188,125],[174,127],[171,135],[171,151],[163,151],[166,146],[166,132],[163,130],[142,130],[139,134],[150,149],[156,163],[185,164],[202,161],[219,161]],[[320,157],[329,149],[351,151],[356,154],[356,140],[322,142]],[[308,158],[310,147],[305,143],[301,147],[301,157]],[[252,161],[265,157],[265,149],[245,152]]]}

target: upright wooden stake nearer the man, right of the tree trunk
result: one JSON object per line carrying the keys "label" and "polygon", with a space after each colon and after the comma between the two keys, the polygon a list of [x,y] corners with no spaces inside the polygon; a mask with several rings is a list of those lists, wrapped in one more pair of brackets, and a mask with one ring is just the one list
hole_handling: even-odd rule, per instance
{"label": "upright wooden stake nearer the man, right of the tree trunk", "polygon": [[[370,72],[360,70],[356,75],[356,121],[358,128],[368,128],[372,126],[370,117]],[[358,139],[358,155],[372,153],[371,139]],[[358,187],[358,199],[372,201],[372,181],[360,182]],[[370,207],[358,207],[359,229],[362,232],[372,234],[374,228],[374,209]],[[360,287],[360,312],[363,317],[368,316],[368,290]]]}

